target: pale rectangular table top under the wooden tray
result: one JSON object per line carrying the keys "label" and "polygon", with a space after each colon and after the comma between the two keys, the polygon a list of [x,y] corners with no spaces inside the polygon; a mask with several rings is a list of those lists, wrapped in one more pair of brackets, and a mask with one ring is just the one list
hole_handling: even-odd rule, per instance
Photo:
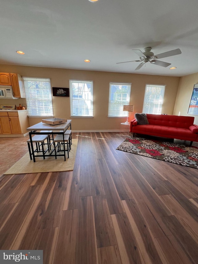
{"label": "pale rectangular table top under the wooden tray", "polygon": [[37,130],[52,130],[52,131],[64,131],[67,126],[71,123],[71,120],[67,119],[67,123],[61,123],[58,125],[49,125],[49,124],[45,124],[45,123],[37,123],[29,128],[27,128],[28,131],[37,131]]}

